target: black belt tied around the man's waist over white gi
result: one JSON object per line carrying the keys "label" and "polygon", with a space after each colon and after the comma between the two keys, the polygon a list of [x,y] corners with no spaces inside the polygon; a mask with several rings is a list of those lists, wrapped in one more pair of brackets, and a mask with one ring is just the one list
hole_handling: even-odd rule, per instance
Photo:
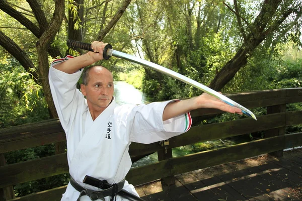
{"label": "black belt tied around the man's waist over white gi", "polygon": [[[106,181],[107,183],[107,181]],[[74,189],[78,190],[80,192],[79,198],[77,201],[80,201],[80,198],[83,195],[88,195],[91,200],[96,200],[96,199],[102,199],[105,201],[106,196],[111,196],[111,200],[113,200],[114,195],[116,196],[117,192],[121,191],[124,187],[125,179],[123,179],[119,183],[113,184],[111,187],[106,188],[104,190],[91,190],[88,188],[85,188],[81,186],[79,183],[75,182],[72,177],[70,177],[70,184]]]}

